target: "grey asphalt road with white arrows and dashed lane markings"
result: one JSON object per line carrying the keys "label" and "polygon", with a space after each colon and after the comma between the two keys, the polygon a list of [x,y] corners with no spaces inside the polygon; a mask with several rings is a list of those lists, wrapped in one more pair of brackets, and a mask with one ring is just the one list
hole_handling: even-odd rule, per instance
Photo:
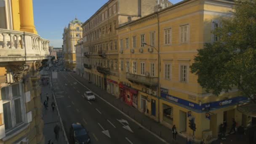
{"label": "grey asphalt road with white arrows and dashed lane markings", "polygon": [[53,79],[53,89],[70,144],[74,143],[69,132],[72,123],[85,126],[92,144],[163,143],[97,96],[95,101],[87,101],[83,96],[88,89],[66,71],[58,72],[58,78]]}

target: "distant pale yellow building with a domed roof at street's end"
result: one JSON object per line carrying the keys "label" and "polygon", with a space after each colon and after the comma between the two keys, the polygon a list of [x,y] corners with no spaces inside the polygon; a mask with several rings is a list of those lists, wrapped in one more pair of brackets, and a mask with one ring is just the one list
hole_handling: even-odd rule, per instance
{"label": "distant pale yellow building with a domed roof at street's end", "polygon": [[82,39],[82,21],[75,18],[69,22],[68,27],[64,27],[63,32],[63,54],[64,54],[64,65],[66,68],[73,70],[76,68],[75,59],[75,45],[78,40]]}

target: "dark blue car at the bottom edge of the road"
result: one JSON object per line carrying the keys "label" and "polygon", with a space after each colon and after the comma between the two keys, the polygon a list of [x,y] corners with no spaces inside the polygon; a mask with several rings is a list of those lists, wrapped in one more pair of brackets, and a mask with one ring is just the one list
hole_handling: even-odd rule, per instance
{"label": "dark blue car at the bottom edge of the road", "polygon": [[75,144],[91,144],[91,138],[85,127],[80,123],[73,123],[70,128],[70,135],[74,138]]}

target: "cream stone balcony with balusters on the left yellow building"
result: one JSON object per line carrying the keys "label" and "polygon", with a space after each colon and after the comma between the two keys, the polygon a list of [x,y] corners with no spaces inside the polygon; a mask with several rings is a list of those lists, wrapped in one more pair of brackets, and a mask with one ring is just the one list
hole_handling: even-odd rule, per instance
{"label": "cream stone balcony with balusters on the left yellow building", "polygon": [[0,61],[48,59],[49,42],[30,32],[0,29]]}

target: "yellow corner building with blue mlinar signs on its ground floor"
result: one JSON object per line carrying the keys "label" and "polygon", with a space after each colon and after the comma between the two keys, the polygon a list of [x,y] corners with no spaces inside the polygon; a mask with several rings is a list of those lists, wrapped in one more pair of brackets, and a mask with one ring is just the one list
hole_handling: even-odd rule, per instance
{"label": "yellow corner building with blue mlinar signs on its ground floor", "polygon": [[[247,125],[250,117],[236,110],[247,99],[237,88],[213,96],[189,72],[197,49],[217,37],[211,30],[232,16],[229,0],[184,0],[117,28],[120,97],[168,128],[192,137],[189,118],[195,117],[195,139],[218,137],[235,118]],[[211,78],[211,77],[209,77]]]}

